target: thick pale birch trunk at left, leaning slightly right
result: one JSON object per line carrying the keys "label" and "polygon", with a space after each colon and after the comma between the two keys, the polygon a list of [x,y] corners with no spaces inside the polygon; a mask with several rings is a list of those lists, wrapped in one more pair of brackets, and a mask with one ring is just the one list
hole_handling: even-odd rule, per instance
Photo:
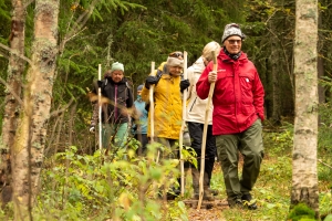
{"label": "thick pale birch trunk at left, leaning slightly right", "polygon": [[60,0],[35,1],[31,66],[11,152],[15,220],[32,219],[38,193],[58,54],[59,4]]}

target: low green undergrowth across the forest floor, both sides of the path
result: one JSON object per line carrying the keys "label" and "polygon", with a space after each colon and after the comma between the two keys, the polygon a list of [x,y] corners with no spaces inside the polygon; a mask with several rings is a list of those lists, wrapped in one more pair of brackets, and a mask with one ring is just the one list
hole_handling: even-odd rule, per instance
{"label": "low green undergrowth across the forest floor, both sides of the path", "polygon": [[[332,133],[330,127],[325,127],[319,139],[329,139],[329,133]],[[227,221],[294,220],[289,219],[292,138],[290,124],[276,133],[263,133],[264,158],[252,190],[258,210],[222,208],[218,211],[219,217]],[[328,221],[332,214],[329,167],[331,143],[324,140],[322,144],[319,146],[321,162],[318,165],[320,215],[321,220]],[[183,200],[193,194],[190,172],[186,172],[186,191],[183,198],[174,201],[162,200],[157,194],[158,190],[167,191],[168,188],[178,186],[175,177],[179,175],[179,161],[156,162],[157,152],[154,145],[149,146],[149,151],[144,158],[136,157],[134,149],[126,154],[122,150],[116,154],[97,150],[93,155],[86,155],[81,154],[77,147],[71,146],[64,152],[46,158],[41,173],[38,203],[33,210],[34,220],[189,220],[189,209]],[[184,151],[184,156],[193,161],[190,148],[185,148]],[[215,165],[211,188],[219,190],[219,199],[226,199],[219,162]],[[10,208],[11,204],[7,208],[6,215],[1,211],[0,218],[11,220]],[[303,221],[304,218],[299,220]]]}

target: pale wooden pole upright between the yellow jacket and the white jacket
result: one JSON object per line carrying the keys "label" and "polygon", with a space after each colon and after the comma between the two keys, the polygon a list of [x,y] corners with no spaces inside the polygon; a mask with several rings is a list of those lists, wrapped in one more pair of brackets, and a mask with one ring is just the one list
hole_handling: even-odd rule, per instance
{"label": "pale wooden pole upright between the yellow jacket and the white jacket", "polygon": [[[184,52],[184,80],[188,78],[188,74],[187,74],[187,52]],[[180,171],[181,171],[181,197],[184,197],[185,193],[185,161],[183,158],[183,145],[184,145],[184,131],[185,131],[185,127],[186,127],[186,105],[187,103],[187,90],[184,91],[183,93],[183,122],[181,122],[181,129],[180,129],[180,134],[179,134],[179,157],[180,157]]]}

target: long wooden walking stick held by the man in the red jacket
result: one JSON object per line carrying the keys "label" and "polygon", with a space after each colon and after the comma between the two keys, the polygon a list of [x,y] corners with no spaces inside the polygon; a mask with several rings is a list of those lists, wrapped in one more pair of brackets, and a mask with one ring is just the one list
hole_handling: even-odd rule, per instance
{"label": "long wooden walking stick held by the man in the red jacket", "polygon": [[[211,53],[212,53],[212,59],[214,59],[214,72],[217,72],[218,64],[217,64],[216,52],[211,51]],[[198,199],[198,206],[197,206],[198,210],[200,210],[203,196],[204,196],[204,170],[205,170],[206,136],[207,136],[207,129],[208,129],[208,117],[209,117],[210,104],[211,104],[211,99],[212,99],[214,91],[215,91],[215,84],[216,84],[216,82],[212,82],[210,84],[209,96],[208,96],[208,101],[207,101],[206,109],[205,109],[205,120],[204,120],[201,154],[200,154],[199,199]]]}

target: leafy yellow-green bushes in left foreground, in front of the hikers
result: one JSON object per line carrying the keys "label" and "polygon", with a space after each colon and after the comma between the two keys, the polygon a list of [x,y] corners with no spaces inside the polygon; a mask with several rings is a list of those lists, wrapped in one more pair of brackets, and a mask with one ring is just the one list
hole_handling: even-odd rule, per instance
{"label": "leafy yellow-green bushes in left foreground, in front of the hikers", "polygon": [[[37,220],[187,220],[181,201],[169,204],[158,196],[178,186],[178,160],[156,162],[133,149],[105,155],[79,155],[76,147],[46,159]],[[186,152],[188,155],[188,152]]]}

